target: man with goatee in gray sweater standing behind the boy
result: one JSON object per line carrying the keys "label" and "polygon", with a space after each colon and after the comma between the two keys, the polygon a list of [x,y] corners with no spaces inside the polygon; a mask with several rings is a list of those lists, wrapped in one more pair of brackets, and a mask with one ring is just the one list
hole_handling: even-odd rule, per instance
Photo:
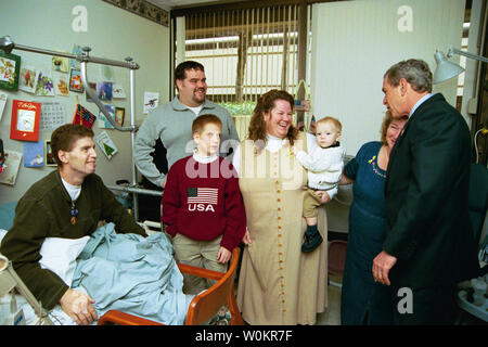
{"label": "man with goatee in gray sweater standing behind the boy", "polygon": [[133,143],[137,168],[153,184],[162,188],[166,183],[166,175],[159,172],[151,156],[157,139],[160,139],[167,151],[168,169],[175,162],[192,153],[192,123],[200,115],[215,114],[222,121],[221,156],[239,143],[229,112],[205,99],[207,82],[202,64],[193,61],[179,64],[175,70],[175,82],[178,95],[150,112]]}

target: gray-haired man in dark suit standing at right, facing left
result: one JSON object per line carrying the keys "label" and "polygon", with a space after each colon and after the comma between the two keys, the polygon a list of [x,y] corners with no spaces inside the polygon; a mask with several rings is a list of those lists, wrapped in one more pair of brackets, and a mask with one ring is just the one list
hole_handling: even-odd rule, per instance
{"label": "gray-haired man in dark suit standing at right, facing left", "polygon": [[479,270],[467,210],[470,130],[442,94],[431,93],[424,61],[391,66],[383,92],[393,116],[409,120],[388,163],[386,239],[373,277],[391,285],[396,324],[449,324],[457,283]]}

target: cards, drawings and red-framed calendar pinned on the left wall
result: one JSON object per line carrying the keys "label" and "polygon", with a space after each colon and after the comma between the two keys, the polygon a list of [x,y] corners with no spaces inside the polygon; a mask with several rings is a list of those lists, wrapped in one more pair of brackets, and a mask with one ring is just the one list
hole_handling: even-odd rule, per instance
{"label": "cards, drawings and red-framed calendar pinned on the left wall", "polygon": [[[10,119],[9,139],[23,142],[23,152],[13,151],[9,145],[4,145],[0,183],[8,185],[15,185],[21,166],[25,168],[55,166],[52,154],[49,153],[49,140],[39,137],[41,131],[51,133],[55,128],[68,123],[92,128],[97,118],[105,120],[100,128],[114,129],[124,126],[126,114],[126,108],[119,101],[126,100],[127,93],[123,83],[117,82],[113,66],[98,60],[98,65],[91,69],[91,79],[86,80],[88,88],[84,86],[81,72],[85,68],[88,75],[87,66],[90,57],[87,56],[87,62],[84,63],[76,59],[82,53],[80,44],[73,46],[70,55],[75,59],[63,56],[67,55],[66,52],[60,52],[60,56],[53,55],[52,50],[46,50],[46,55],[33,59],[30,53],[22,52],[23,46],[20,47],[17,50],[14,47],[15,54],[0,51],[0,120]],[[139,67],[133,67],[137,68]],[[84,94],[85,106],[79,101]],[[66,110],[69,103],[64,101],[69,99],[76,100],[74,110],[69,106]],[[91,103],[93,105],[90,105]],[[9,104],[10,112],[7,112]],[[115,127],[102,113],[99,104],[105,110],[114,111],[110,113],[112,121],[115,120],[117,110],[119,116]],[[106,123],[110,126],[105,126]],[[129,131],[132,129],[133,127]],[[110,160],[118,151],[106,131],[103,139],[104,142],[98,141],[97,144],[99,151]]]}

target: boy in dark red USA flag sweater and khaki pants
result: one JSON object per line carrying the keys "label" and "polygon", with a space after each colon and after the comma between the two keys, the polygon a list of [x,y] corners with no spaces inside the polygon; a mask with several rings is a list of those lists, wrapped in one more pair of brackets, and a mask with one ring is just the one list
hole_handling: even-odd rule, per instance
{"label": "boy in dark red USA flag sweater and khaki pants", "polygon": [[[177,261],[226,272],[232,249],[244,236],[246,215],[237,174],[218,155],[221,127],[209,114],[193,121],[196,149],[169,169],[162,222],[172,237]],[[214,283],[185,274],[183,290],[198,294]]]}

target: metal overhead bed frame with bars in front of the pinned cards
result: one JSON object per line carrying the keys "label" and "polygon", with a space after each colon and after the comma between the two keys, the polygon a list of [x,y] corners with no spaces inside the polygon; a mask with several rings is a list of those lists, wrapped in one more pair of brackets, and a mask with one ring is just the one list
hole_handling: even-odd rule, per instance
{"label": "metal overhead bed frame with bars in front of the pinned cards", "polygon": [[[69,57],[78,61],[80,63],[80,75],[81,75],[81,82],[84,86],[88,86],[88,78],[87,78],[87,63],[95,63],[95,64],[103,64],[103,65],[111,65],[111,66],[118,66],[130,69],[129,77],[130,77],[130,127],[120,127],[112,117],[112,115],[108,113],[108,111],[103,106],[102,102],[100,101],[97,93],[93,93],[93,91],[90,88],[86,88],[86,91],[88,95],[94,101],[97,106],[99,107],[100,112],[103,113],[103,115],[106,117],[106,119],[110,121],[110,124],[119,131],[130,131],[130,141],[133,144],[134,141],[134,134],[138,130],[138,127],[136,126],[134,120],[134,70],[139,69],[139,65],[132,61],[131,57],[126,57],[124,62],[103,59],[103,57],[95,57],[90,56],[89,52],[91,51],[91,48],[84,47],[82,53],[80,54],[69,54],[64,52],[56,52],[56,51],[50,51],[23,44],[14,43],[10,36],[3,36],[0,37],[0,50],[3,50],[5,53],[11,53],[13,49],[17,49],[21,51],[27,51],[27,52],[34,52],[39,54],[48,54],[48,55],[54,55],[54,56],[63,56],[63,57]],[[139,220],[139,203],[137,198],[137,194],[147,194],[147,195],[154,195],[154,196],[160,196],[160,192],[147,190],[147,189],[141,189],[137,188],[137,178],[136,178],[136,163],[132,156],[132,184],[131,187],[113,187],[107,185],[111,190],[118,190],[124,192],[129,192],[132,194],[132,203],[133,203],[133,218],[136,221]]]}

